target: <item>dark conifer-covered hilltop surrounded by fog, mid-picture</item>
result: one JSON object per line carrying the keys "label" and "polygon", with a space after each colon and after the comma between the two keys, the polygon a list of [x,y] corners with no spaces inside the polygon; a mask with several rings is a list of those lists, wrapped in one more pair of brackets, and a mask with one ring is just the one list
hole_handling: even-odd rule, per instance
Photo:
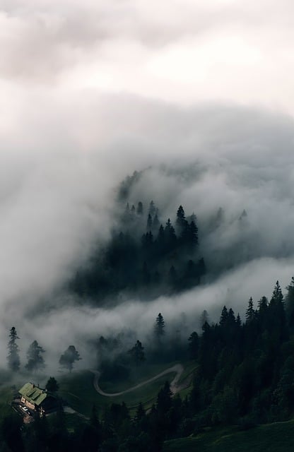
{"label": "dark conifer-covered hilltop surrounded by fog, mid-picture", "polygon": [[71,291],[95,303],[119,292],[143,299],[174,293],[198,285],[206,273],[198,253],[196,215],[186,218],[180,206],[175,215],[161,218],[153,201],[124,208],[110,241],[95,252],[71,281]]}

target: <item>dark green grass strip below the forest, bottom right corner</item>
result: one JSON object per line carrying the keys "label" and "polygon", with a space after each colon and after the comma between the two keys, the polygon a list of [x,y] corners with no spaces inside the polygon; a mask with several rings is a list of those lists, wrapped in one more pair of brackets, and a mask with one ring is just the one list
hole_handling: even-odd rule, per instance
{"label": "dark green grass strip below the forest, bottom right corner", "polygon": [[236,427],[211,429],[197,436],[166,441],[163,452],[290,452],[294,420],[260,425],[240,432]]}

